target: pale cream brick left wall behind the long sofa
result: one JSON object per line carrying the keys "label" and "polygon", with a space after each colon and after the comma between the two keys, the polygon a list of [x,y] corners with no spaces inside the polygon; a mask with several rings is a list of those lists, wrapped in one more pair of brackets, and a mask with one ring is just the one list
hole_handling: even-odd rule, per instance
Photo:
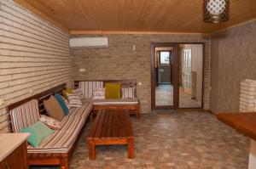
{"label": "pale cream brick left wall behind the long sofa", "polygon": [[72,85],[69,35],[12,1],[0,0],[0,132],[5,107],[66,82]]}

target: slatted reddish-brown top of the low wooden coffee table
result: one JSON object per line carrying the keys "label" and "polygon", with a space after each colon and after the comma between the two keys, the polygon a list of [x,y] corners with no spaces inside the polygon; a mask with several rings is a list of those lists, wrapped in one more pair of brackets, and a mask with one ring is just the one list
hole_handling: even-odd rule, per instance
{"label": "slatted reddish-brown top of the low wooden coffee table", "polygon": [[128,110],[99,110],[88,138],[133,138]]}

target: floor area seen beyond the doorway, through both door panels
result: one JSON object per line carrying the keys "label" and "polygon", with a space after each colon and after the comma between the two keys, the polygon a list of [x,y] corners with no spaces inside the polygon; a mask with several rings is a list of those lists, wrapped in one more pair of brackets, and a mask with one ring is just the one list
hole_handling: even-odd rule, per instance
{"label": "floor area seen beyond the doorway, through both door panels", "polygon": [[[159,85],[155,88],[156,105],[173,105],[173,87],[172,85]],[[179,88],[179,107],[180,108],[198,108],[200,104],[191,95],[184,93],[183,88]]]}

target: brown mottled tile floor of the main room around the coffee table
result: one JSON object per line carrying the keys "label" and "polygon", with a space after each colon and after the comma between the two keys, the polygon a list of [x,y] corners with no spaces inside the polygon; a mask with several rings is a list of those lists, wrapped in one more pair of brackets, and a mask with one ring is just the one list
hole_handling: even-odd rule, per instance
{"label": "brown mottled tile floor of the main room around the coffee table", "polygon": [[246,169],[249,139],[203,112],[159,113],[131,117],[135,159],[126,147],[98,146],[96,161],[88,159],[86,127],[73,153],[71,169],[172,168]]}

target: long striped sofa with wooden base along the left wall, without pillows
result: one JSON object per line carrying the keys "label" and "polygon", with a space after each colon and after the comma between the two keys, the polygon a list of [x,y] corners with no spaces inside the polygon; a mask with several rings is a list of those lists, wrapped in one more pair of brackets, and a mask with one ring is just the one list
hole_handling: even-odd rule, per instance
{"label": "long striped sofa with wooden base along the left wall, without pillows", "polygon": [[[61,87],[60,91],[62,89]],[[47,91],[46,93],[43,93],[46,94],[46,98],[52,94]],[[44,97],[42,99],[39,94],[32,99],[24,100],[25,103],[21,100],[19,103],[9,105],[12,132],[20,132],[23,127],[29,127],[38,121],[40,114],[44,112],[43,100]],[[38,147],[28,145],[28,165],[60,165],[61,169],[69,168],[68,160],[73,152],[74,144],[92,109],[93,104],[86,102],[82,107],[71,108],[68,115],[61,121],[60,130],[55,130]]]}

